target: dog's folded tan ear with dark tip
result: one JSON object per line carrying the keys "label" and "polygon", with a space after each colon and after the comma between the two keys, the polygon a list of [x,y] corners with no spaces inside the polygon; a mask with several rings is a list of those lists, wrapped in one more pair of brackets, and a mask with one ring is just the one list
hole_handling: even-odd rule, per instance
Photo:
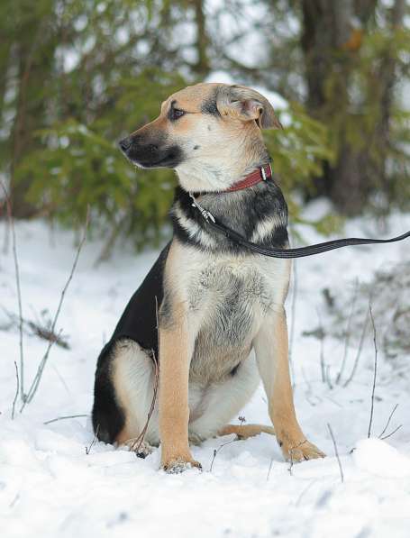
{"label": "dog's folded tan ear with dark tip", "polygon": [[260,129],[283,129],[268,99],[250,87],[219,87],[216,106],[221,115],[232,115],[244,122],[254,120]]}

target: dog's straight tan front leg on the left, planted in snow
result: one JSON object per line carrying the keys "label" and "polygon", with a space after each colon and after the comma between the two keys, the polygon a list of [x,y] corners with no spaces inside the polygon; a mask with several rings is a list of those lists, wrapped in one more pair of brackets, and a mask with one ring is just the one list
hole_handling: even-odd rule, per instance
{"label": "dog's straight tan front leg on the left, planted in snow", "polygon": [[188,445],[188,378],[194,351],[183,305],[173,307],[172,321],[159,318],[159,436],[161,465],[169,472],[201,468]]}

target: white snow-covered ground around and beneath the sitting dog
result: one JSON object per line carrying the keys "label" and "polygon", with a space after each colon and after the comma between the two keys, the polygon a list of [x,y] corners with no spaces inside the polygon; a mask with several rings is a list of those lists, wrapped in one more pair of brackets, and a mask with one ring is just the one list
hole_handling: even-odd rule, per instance
{"label": "white snow-covered ground around and beneath the sitting dog", "polygon": [[[317,212],[320,206],[311,208]],[[410,228],[410,216],[391,219],[389,233]],[[363,219],[349,223],[347,233],[376,234]],[[3,237],[4,228],[0,228]],[[42,223],[16,227],[23,288],[24,316],[43,309],[54,312],[74,258],[72,235],[53,235]],[[306,241],[318,240],[303,230]],[[11,420],[14,360],[18,331],[0,332],[0,530],[12,536],[73,537],[132,535],[138,538],[218,536],[304,536],[395,538],[410,535],[410,362],[400,375],[380,355],[372,438],[367,439],[373,378],[371,334],[351,385],[334,379],[340,369],[343,342],[327,339],[324,360],[333,388],[323,383],[320,344],[304,331],[317,327],[323,307],[322,287],[351,293],[351,280],[369,279],[387,261],[408,260],[409,242],[383,247],[351,248],[297,262],[295,337],[296,409],[305,433],[329,454],[324,460],[289,465],[269,435],[232,442],[219,438],[194,447],[204,471],[178,476],[159,471],[159,450],[146,460],[131,452],[93,441],[89,418],[60,420],[63,415],[88,414],[96,356],[114,328],[123,306],[156,258],[136,257],[118,248],[114,259],[93,268],[99,243],[87,244],[68,289],[59,328],[68,334],[69,351],[55,347],[32,404]],[[291,310],[292,295],[287,310]],[[17,313],[11,253],[0,254],[0,305]],[[292,316],[289,315],[290,322]],[[0,325],[5,323],[0,312]],[[45,342],[26,337],[26,388],[45,349]],[[355,349],[350,349],[345,378]],[[410,357],[407,358],[410,361]],[[388,415],[398,404],[385,441],[378,439]],[[266,422],[260,389],[241,415],[247,422]],[[344,482],[327,424],[341,454]],[[352,449],[354,449],[352,451]],[[270,470],[269,470],[270,468]]]}

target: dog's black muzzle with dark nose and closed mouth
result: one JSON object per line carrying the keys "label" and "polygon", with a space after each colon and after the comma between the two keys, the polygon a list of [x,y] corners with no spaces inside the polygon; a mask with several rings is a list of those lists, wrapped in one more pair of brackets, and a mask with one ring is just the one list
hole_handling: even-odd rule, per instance
{"label": "dog's black muzzle with dark nose and closed mouth", "polygon": [[139,144],[129,139],[119,142],[125,157],[142,169],[175,169],[183,160],[178,145],[160,147],[156,144]]}

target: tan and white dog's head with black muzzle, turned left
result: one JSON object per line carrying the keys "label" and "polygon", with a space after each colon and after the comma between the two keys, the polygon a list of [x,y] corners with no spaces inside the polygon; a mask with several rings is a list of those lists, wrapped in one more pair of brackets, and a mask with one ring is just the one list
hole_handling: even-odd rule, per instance
{"label": "tan and white dog's head with black muzzle, turned left", "polygon": [[176,169],[187,190],[221,190],[266,160],[260,130],[278,127],[257,91],[198,84],[169,96],[156,120],[119,145],[141,168]]}

